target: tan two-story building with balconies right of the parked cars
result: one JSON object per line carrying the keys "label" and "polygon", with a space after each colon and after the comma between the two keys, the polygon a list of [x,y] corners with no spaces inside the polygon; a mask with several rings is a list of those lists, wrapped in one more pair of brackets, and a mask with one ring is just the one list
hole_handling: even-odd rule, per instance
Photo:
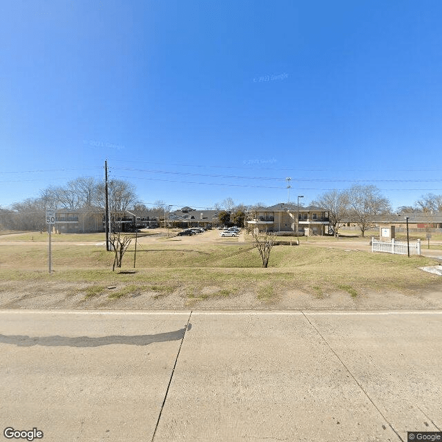
{"label": "tan two-story building with balconies right of the parked cars", "polygon": [[325,235],[329,233],[329,212],[317,206],[302,207],[281,202],[247,213],[247,228],[258,231]]}

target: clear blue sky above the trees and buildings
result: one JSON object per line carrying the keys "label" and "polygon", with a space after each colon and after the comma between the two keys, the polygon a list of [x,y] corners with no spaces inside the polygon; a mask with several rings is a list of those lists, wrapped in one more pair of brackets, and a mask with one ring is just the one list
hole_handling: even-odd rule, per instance
{"label": "clear blue sky above the trees and buildings", "polygon": [[4,1],[0,206],[80,176],[177,207],[442,193],[442,3]]}

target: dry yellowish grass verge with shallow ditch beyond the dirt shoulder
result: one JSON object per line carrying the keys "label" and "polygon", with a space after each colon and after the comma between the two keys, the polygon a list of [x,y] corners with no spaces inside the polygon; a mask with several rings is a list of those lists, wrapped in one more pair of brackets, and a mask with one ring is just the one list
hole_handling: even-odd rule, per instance
{"label": "dry yellowish grass verge with shallow ditch beyond the dirt shoulder", "polygon": [[[154,244],[124,256],[122,269],[112,271],[113,253],[97,246],[52,247],[54,272],[48,274],[47,246],[1,246],[0,291],[20,285],[52,287],[69,284],[84,298],[93,298],[106,287],[119,289],[109,298],[152,292],[158,299],[180,290],[189,300],[207,300],[253,292],[258,300],[271,302],[279,293],[296,289],[320,298],[340,291],[356,298],[361,291],[404,292],[431,289],[440,277],[418,267],[434,265],[431,258],[345,251],[327,247],[275,246],[269,268],[262,269],[258,251],[245,242],[220,244]],[[211,291],[210,287],[214,287]]]}

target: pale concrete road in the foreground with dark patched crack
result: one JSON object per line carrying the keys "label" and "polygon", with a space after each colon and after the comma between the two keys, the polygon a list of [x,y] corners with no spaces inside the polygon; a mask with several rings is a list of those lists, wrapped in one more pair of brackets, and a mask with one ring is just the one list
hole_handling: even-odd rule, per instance
{"label": "pale concrete road in the foreground with dark patched crack", "polygon": [[407,441],[442,427],[441,338],[442,311],[0,311],[1,432]]}

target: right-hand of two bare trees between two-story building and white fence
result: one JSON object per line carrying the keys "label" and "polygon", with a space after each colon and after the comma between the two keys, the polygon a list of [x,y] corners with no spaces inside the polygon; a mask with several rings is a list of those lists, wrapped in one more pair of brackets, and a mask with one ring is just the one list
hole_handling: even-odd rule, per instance
{"label": "right-hand of two bare trees between two-story building and white fence", "polygon": [[390,213],[390,201],[381,195],[380,189],[373,185],[356,184],[348,191],[349,216],[361,229],[361,236],[374,226],[377,215]]}

